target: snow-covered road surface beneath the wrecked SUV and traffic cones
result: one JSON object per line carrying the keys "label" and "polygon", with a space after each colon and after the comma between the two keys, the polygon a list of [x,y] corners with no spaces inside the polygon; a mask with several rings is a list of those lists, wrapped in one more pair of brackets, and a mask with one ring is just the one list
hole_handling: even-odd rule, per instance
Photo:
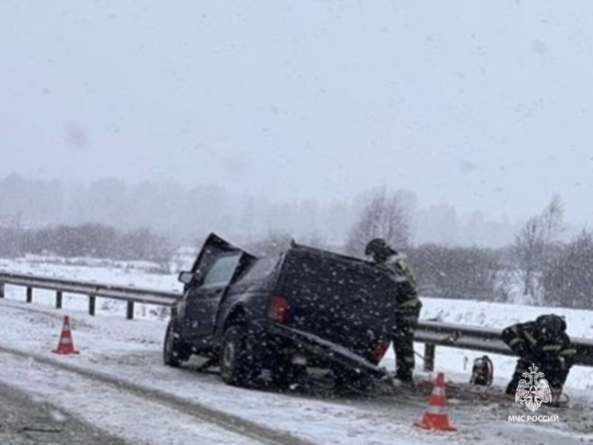
{"label": "snow-covered road surface beneath the wrecked SUV and traffic cones", "polygon": [[[397,438],[399,443],[414,444],[445,443],[452,438],[412,426],[425,411],[423,396],[410,398],[396,390],[371,399],[325,399],[230,387],[214,374],[162,365],[164,322],[91,317],[73,311],[69,313],[74,320],[74,341],[81,354],[56,356],[50,351],[58,341],[65,311],[11,300],[0,300],[0,307],[0,345],[4,347],[100,371],[307,441],[387,444]],[[248,443],[248,438],[237,436],[236,431],[155,403],[149,396],[75,376],[36,360],[1,354],[0,374],[2,382],[43,397],[130,443],[189,444],[200,438],[208,438],[209,443]],[[531,425],[509,424],[508,415],[521,414],[512,400],[459,397],[451,402],[449,414],[459,428],[451,434],[458,443],[520,443],[519,437],[540,443],[551,438],[554,443],[579,443],[591,428],[581,400],[576,408],[560,412],[562,422]]]}

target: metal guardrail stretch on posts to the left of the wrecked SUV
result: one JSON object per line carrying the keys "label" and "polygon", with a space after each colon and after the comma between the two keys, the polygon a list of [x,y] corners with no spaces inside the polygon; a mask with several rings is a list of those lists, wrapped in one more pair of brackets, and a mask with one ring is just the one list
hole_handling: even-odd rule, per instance
{"label": "metal guardrail stretch on posts to the left of the wrecked SUV", "polygon": [[62,294],[64,293],[87,295],[88,313],[91,315],[95,314],[95,299],[97,297],[124,300],[127,301],[126,317],[129,320],[134,317],[134,303],[171,306],[181,298],[181,294],[175,292],[5,272],[0,272],[0,298],[4,297],[4,284],[26,287],[27,303],[33,301],[33,289],[56,291],[57,309],[62,308]]}

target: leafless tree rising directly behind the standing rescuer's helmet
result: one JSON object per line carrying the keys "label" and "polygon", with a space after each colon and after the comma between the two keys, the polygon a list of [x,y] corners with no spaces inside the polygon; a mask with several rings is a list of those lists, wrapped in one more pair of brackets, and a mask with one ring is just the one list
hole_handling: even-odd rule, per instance
{"label": "leafless tree rising directly behind the standing rescuer's helmet", "polygon": [[346,252],[362,255],[366,243],[383,238],[396,249],[410,243],[410,192],[400,190],[387,193],[384,188],[375,190],[362,209],[359,220],[353,225],[346,241]]}

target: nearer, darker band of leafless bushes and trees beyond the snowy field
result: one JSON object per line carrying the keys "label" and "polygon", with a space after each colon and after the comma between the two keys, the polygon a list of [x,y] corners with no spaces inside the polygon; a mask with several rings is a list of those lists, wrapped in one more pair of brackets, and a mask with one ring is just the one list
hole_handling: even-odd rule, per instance
{"label": "nearer, darker band of leafless bushes and trees beyond the snowy field", "polygon": [[[421,295],[442,298],[524,302],[593,308],[593,234],[582,232],[561,241],[563,202],[553,196],[540,214],[529,218],[514,243],[493,249],[442,243],[412,243],[409,192],[385,188],[367,193],[358,218],[342,244],[311,234],[298,243],[361,257],[369,240],[381,237],[409,257]],[[288,247],[292,235],[272,231],[241,245],[256,255]],[[200,241],[196,241],[199,247]],[[121,230],[106,224],[62,224],[23,228],[0,226],[0,256],[26,253],[72,257],[148,260],[169,272],[176,244],[150,228]]]}

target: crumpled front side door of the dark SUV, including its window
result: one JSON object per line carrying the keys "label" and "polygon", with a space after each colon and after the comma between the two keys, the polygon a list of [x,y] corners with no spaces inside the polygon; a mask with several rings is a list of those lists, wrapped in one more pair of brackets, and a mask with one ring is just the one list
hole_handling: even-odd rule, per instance
{"label": "crumpled front side door of the dark SUV, including its window", "polygon": [[222,298],[229,285],[256,258],[211,233],[192,266],[193,279],[184,287],[183,336],[212,335]]}

